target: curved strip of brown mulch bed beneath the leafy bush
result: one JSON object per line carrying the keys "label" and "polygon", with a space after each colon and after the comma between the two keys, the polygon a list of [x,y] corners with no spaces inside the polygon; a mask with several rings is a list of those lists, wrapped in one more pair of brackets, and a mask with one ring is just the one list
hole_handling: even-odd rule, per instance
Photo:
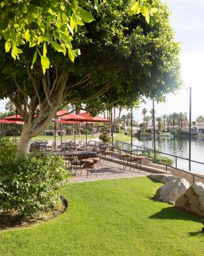
{"label": "curved strip of brown mulch bed beneath the leafy bush", "polygon": [[62,203],[60,209],[53,209],[51,211],[52,214],[50,214],[48,218],[32,218],[30,220],[21,222],[17,214],[0,213],[0,232],[3,230],[26,228],[41,223],[47,223],[48,221],[54,220],[55,218],[61,216],[64,214],[64,212],[66,212],[69,204],[68,200],[64,196],[59,195],[59,197]]}

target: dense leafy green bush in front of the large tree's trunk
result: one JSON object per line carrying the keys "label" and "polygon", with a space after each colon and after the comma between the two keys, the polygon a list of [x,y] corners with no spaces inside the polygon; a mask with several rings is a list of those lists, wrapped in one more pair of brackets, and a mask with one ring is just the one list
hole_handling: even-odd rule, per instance
{"label": "dense leafy green bush in front of the large tree's trunk", "polygon": [[6,150],[0,152],[0,209],[26,220],[59,205],[57,189],[70,176],[63,159],[38,152],[15,161],[16,147],[0,145]]}

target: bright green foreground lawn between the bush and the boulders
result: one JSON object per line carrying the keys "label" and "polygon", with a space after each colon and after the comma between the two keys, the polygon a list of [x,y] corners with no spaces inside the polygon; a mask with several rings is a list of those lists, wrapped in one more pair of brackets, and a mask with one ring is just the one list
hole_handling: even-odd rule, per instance
{"label": "bright green foreground lawn between the bush and the boulders", "polygon": [[150,199],[146,177],[75,183],[68,210],[48,223],[0,232],[1,256],[203,255],[201,219]]}

